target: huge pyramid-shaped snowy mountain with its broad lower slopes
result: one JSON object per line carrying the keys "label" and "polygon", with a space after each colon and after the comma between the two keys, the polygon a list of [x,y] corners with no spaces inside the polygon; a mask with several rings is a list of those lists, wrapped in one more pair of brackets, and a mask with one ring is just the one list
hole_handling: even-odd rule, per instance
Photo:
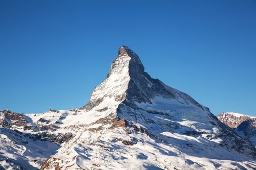
{"label": "huge pyramid-shaped snowy mountain with its broad lower slopes", "polygon": [[[23,160],[16,164],[40,169],[256,168],[250,141],[186,93],[151,78],[127,46],[119,48],[87,105],[39,114],[5,110],[0,115],[9,142],[12,132],[27,141],[14,144],[17,150],[34,150],[33,141],[44,143],[36,148],[37,155],[20,151],[13,156],[0,145],[1,163],[9,161],[5,168],[16,159]],[[44,149],[48,143],[53,144],[50,151]]]}

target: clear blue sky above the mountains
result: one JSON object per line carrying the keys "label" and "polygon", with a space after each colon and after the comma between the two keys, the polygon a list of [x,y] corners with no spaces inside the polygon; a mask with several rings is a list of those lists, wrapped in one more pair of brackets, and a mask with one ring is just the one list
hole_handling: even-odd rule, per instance
{"label": "clear blue sky above the mountains", "polygon": [[256,115],[256,1],[0,1],[0,110],[86,105],[120,45],[214,114]]}

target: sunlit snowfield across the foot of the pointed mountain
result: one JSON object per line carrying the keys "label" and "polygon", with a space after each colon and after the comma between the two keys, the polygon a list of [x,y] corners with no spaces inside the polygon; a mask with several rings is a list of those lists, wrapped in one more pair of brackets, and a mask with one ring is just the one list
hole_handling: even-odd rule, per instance
{"label": "sunlit snowfield across the foot of the pointed mountain", "polygon": [[[174,139],[172,144],[164,144],[155,142],[142,134],[131,134],[131,137],[136,138],[138,142],[135,145],[126,146],[120,141],[111,142],[115,138],[127,139],[123,130],[116,129],[107,132],[103,131],[101,134],[84,132],[82,138],[75,139],[78,142],[68,157],[63,156],[61,152],[55,156],[61,158],[61,160],[63,159],[63,161],[76,156],[72,162],[75,163],[73,167],[78,166],[84,169],[90,169],[94,165],[98,165],[100,169],[148,169],[149,167],[216,169],[217,165],[222,169],[234,169],[236,168],[236,165],[233,165],[234,163],[244,167],[247,167],[246,164],[248,163],[254,165],[254,167],[256,166],[255,163],[246,161],[247,158],[242,158],[241,155],[237,156],[222,148],[206,148],[203,145],[198,145],[199,149],[195,148],[196,150],[193,150],[193,148],[184,149],[184,145],[188,141],[194,144],[200,143],[200,139],[189,137],[190,140],[188,140],[185,135],[166,132],[165,135]],[[89,136],[94,139],[100,138],[100,141],[94,140],[92,142],[88,140]],[[184,142],[181,143],[180,139]],[[196,151],[197,154],[189,150]],[[227,157],[232,159],[222,160],[222,158]],[[69,163],[69,165],[72,163]]]}

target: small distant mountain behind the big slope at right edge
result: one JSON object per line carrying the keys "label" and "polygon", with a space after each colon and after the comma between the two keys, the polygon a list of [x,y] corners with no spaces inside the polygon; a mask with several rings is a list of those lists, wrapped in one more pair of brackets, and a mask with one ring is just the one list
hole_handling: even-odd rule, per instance
{"label": "small distant mountain behind the big slope at right edge", "polygon": [[232,128],[238,135],[249,139],[256,147],[256,117],[240,113],[224,112],[219,114],[218,119]]}

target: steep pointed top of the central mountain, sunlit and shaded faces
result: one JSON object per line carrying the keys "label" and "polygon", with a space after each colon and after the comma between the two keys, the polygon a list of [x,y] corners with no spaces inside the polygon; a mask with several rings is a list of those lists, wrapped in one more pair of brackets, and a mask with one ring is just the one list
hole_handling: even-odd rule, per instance
{"label": "steep pointed top of the central mountain, sunlit and shaded faces", "polygon": [[105,99],[137,107],[136,103],[152,104],[157,97],[203,109],[189,95],[151,78],[144,71],[138,55],[123,45],[118,50],[117,58],[112,61],[108,76],[93,90],[89,103],[82,108],[91,110]]}

